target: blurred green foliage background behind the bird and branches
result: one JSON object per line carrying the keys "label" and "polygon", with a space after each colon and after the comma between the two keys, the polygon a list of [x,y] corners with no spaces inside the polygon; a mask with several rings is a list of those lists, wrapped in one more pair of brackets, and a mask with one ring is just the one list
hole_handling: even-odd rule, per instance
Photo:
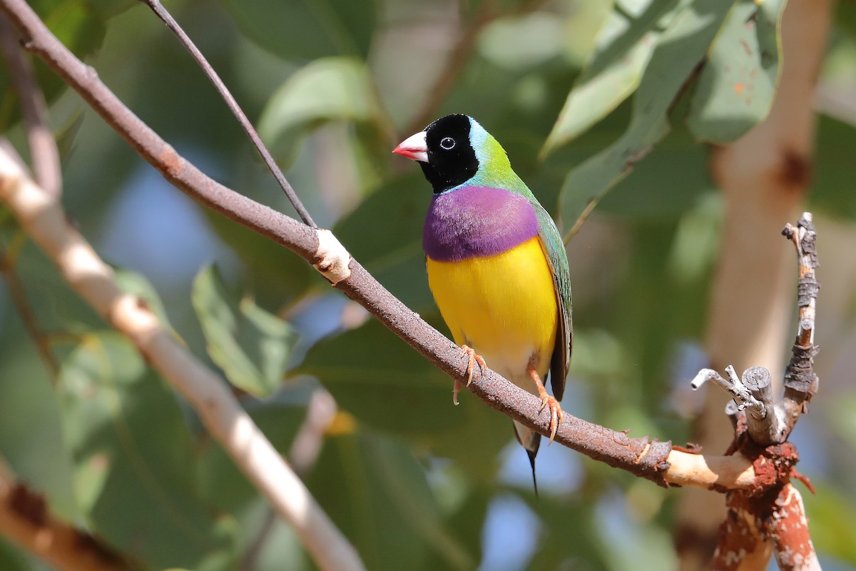
{"label": "blurred green foliage background behind the bird and branches", "polygon": [[[179,152],[227,186],[294,213],[146,7],[32,4]],[[701,339],[722,228],[709,145],[735,140],[769,110],[783,5],[167,7],[256,122],[316,221],[441,330],[420,247],[431,193],[413,164],[389,152],[404,136],[445,113],[467,113],[502,143],[565,230],[599,199],[568,247],[574,359],[563,407],[681,443],[702,398],[687,379],[707,364]],[[805,502],[821,561],[846,569],[856,567],[856,392],[848,382],[856,367],[856,4],[837,10],[806,205],[823,262],[823,384],[794,441],[800,471],[817,486]],[[368,568],[677,568],[678,491],[550,446],[538,456],[536,499],[507,419],[466,395],[453,407],[451,379],[303,260],[169,187],[74,92],[36,68],[62,151],[63,203],[121,269],[125,287],[223,371],[283,454],[293,453],[320,387],[335,398],[339,413],[304,476]],[[26,154],[5,69],[0,89],[0,128]],[[54,374],[39,359],[0,282],[0,455],[19,478],[54,513],[147,568],[313,568],[187,404],[66,287],[2,207],[0,238],[59,365]],[[792,335],[782,331],[782,343]],[[0,568],[44,566],[0,538]]]}

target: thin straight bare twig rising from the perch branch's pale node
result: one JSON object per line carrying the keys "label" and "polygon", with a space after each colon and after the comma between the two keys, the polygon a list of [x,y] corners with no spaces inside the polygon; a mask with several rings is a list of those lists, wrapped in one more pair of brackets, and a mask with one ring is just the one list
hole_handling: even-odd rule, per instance
{"label": "thin straight bare twig rising from the perch branch's pale node", "polygon": [[158,15],[164,24],[175,33],[175,36],[181,41],[181,45],[183,45],[187,51],[191,53],[193,59],[199,63],[199,67],[205,72],[205,75],[208,76],[208,79],[211,80],[211,83],[217,88],[217,92],[220,93],[220,96],[229,106],[229,110],[232,112],[232,115],[241,123],[241,127],[244,129],[244,132],[247,133],[247,136],[250,140],[253,141],[253,146],[256,147],[256,150],[261,155],[262,160],[265,161],[268,170],[270,170],[270,174],[276,179],[276,182],[282,188],[282,192],[288,197],[288,201],[291,202],[291,205],[294,206],[294,210],[297,211],[298,215],[300,215],[300,219],[303,220],[306,225],[311,228],[318,228],[315,225],[315,222],[312,220],[312,217],[309,215],[309,211],[306,210],[306,206],[300,201],[297,193],[294,192],[294,188],[291,187],[291,183],[286,180],[285,175],[282,175],[282,170],[280,170],[279,165],[276,164],[276,161],[270,155],[265,143],[262,142],[261,137],[259,137],[259,133],[256,132],[256,129],[253,127],[253,123],[247,119],[247,115],[241,109],[241,106],[235,101],[235,98],[232,97],[232,94],[229,92],[229,89],[226,87],[226,84],[223,83],[223,80],[220,79],[220,76],[217,75],[217,72],[214,71],[214,68],[211,67],[211,64],[208,60],[205,59],[205,56],[202,55],[202,52],[193,44],[193,41],[187,36],[187,33],[181,29],[181,26],[178,25],[178,22],[175,21],[175,18],[169,14],[167,9],[163,8],[163,5],[158,0],[143,0],[152,11]]}

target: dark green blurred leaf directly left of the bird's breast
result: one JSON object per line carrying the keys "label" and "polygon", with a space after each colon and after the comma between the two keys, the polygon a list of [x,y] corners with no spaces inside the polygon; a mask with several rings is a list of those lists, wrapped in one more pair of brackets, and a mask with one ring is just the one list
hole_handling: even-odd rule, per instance
{"label": "dark green blurred leaf directly left of the bird's breast", "polygon": [[414,311],[436,311],[422,252],[422,225],[431,190],[421,173],[377,188],[333,233],[354,259]]}

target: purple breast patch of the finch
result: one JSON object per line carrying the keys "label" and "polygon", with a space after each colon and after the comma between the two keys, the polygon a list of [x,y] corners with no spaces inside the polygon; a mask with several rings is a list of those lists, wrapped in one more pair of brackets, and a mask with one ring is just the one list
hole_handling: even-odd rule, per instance
{"label": "purple breast patch of the finch", "polygon": [[505,252],[538,235],[526,197],[502,188],[461,187],[437,194],[422,229],[429,258],[453,262]]}

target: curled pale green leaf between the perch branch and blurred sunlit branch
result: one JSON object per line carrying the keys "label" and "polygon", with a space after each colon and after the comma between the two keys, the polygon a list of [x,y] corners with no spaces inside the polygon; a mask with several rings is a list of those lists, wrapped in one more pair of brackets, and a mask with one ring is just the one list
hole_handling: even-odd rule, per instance
{"label": "curled pale green leaf between the perch branch and blurred sunlit branch", "polygon": [[276,390],[297,341],[291,326],[252,300],[229,295],[213,265],[193,278],[191,300],[208,354],[229,382],[255,396]]}

